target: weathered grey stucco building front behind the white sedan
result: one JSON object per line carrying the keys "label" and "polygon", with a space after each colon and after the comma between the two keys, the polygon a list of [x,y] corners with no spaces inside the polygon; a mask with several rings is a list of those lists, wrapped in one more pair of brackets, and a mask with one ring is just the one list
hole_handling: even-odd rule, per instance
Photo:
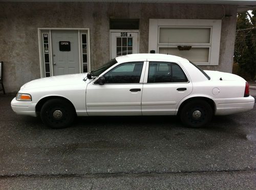
{"label": "weathered grey stucco building front behind the white sedan", "polygon": [[130,53],[167,53],[231,72],[238,6],[0,3],[5,89],[17,92],[32,79],[88,72]]}

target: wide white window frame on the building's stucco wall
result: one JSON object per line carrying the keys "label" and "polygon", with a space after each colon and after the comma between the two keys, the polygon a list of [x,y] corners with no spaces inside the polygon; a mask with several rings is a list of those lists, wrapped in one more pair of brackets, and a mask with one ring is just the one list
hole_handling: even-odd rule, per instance
{"label": "wide white window frame on the building's stucco wall", "polygon": [[[219,65],[221,24],[221,19],[150,19],[148,52],[155,50],[158,53],[159,47],[178,45],[209,47],[208,62],[194,63],[206,66]],[[210,43],[159,43],[160,28],[210,28]]]}

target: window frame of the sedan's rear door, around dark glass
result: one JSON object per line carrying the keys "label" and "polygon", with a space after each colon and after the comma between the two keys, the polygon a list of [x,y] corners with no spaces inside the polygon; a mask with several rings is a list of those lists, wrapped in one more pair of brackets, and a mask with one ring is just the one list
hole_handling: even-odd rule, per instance
{"label": "window frame of the sedan's rear door, around dark glass", "polygon": [[[187,82],[169,82],[169,83],[147,83],[147,79],[148,79],[148,73],[150,72],[150,62],[159,62],[159,63],[170,63],[170,64],[177,64],[180,69],[182,70],[182,72],[184,73],[184,75],[187,78]],[[144,75],[144,80],[143,80],[143,84],[144,85],[156,85],[156,84],[186,84],[186,83],[190,83],[190,78],[188,77],[187,73],[185,72],[185,70],[183,69],[183,67],[177,63],[177,62],[168,62],[168,61],[147,61],[146,62],[146,70],[145,70],[145,75]]]}

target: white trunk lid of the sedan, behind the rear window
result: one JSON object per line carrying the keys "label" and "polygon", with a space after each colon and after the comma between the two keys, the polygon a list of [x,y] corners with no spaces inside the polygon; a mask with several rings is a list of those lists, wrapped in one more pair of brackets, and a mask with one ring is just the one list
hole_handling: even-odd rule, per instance
{"label": "white trunk lid of the sedan, behind the rear window", "polygon": [[232,73],[227,73],[227,72],[220,72],[220,71],[209,71],[209,70],[204,70],[207,75],[209,75],[211,80],[236,80],[236,81],[245,81],[244,78],[241,76],[238,76],[236,74]]}

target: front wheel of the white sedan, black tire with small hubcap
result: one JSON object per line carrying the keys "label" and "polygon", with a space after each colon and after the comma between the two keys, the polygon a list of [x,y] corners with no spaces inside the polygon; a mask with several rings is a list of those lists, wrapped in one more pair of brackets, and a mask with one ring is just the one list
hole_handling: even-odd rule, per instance
{"label": "front wheel of the white sedan, black tire with small hubcap", "polygon": [[40,116],[42,122],[48,127],[66,128],[74,121],[75,110],[67,100],[54,98],[42,105]]}

